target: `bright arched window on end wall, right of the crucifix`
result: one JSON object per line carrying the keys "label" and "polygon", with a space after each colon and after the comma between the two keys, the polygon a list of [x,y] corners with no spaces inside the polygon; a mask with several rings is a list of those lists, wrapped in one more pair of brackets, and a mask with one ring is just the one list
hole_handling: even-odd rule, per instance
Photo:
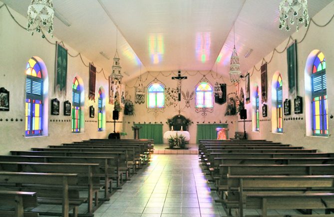
{"label": "bright arched window on end wall, right of the crucifix", "polygon": [[213,91],[212,86],[208,82],[200,82],[196,86],[195,107],[211,108],[213,107]]}

